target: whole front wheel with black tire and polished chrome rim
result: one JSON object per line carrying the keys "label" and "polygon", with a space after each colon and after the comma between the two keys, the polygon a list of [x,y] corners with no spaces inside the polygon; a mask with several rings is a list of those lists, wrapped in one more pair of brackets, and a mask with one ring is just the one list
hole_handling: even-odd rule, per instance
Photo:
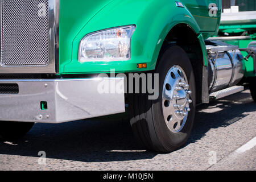
{"label": "whole front wheel with black tire and polished chrome rim", "polygon": [[195,118],[196,85],[187,53],[178,46],[159,57],[159,97],[130,94],[129,113],[134,135],[144,148],[171,152],[180,148],[191,133]]}

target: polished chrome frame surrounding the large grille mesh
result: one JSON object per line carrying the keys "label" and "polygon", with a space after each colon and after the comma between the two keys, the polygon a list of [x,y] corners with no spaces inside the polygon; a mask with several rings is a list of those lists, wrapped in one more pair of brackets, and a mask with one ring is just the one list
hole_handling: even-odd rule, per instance
{"label": "polished chrome frame surrounding the large grille mesh", "polygon": [[[0,73],[58,73],[59,72],[59,15],[60,0],[49,2],[49,64],[47,66],[2,67]],[[2,0],[0,0],[0,34],[2,42]],[[2,44],[2,43],[1,43]],[[1,61],[0,61],[1,62]]]}

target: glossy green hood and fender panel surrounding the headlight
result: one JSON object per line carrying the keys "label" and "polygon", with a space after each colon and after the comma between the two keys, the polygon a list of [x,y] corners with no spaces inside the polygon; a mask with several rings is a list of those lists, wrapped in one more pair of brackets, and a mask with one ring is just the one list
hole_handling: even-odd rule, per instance
{"label": "glossy green hood and fender panel surrounding the headlight", "polygon": [[[74,1],[77,2],[79,0],[73,0],[72,2]],[[63,0],[61,2],[64,3]],[[80,4],[82,3],[81,1],[79,2]],[[86,16],[88,19],[87,22],[85,21],[85,16],[82,16],[83,14],[80,12],[81,7],[74,6],[77,7],[77,19],[82,16],[84,23],[81,21],[77,23],[75,19],[76,15],[73,14],[72,19],[76,23],[72,23],[72,26],[76,25],[77,27],[72,27],[72,31],[65,32],[61,32],[61,28],[68,28],[70,19],[67,16],[71,10],[61,10],[60,74],[100,73],[110,72],[110,69],[115,69],[115,72],[139,72],[155,69],[163,40],[172,27],[180,23],[188,24],[196,33],[203,51],[204,64],[207,65],[207,53],[203,35],[200,33],[200,28],[196,20],[186,7],[177,7],[175,1],[170,0],[114,0],[105,4],[99,3],[99,6],[101,8],[94,15],[93,13],[86,12],[90,14],[90,16]],[[72,9],[72,13],[75,13],[75,11]],[[90,8],[85,7],[85,11],[90,11]],[[63,18],[61,19],[61,17]],[[130,60],[91,61],[85,63],[80,63],[77,60],[80,40],[86,34],[129,24],[135,24],[137,26],[131,39]],[[71,27],[69,28],[71,29]],[[77,32],[76,35],[75,32]],[[147,63],[147,68],[138,69],[138,63]]]}

